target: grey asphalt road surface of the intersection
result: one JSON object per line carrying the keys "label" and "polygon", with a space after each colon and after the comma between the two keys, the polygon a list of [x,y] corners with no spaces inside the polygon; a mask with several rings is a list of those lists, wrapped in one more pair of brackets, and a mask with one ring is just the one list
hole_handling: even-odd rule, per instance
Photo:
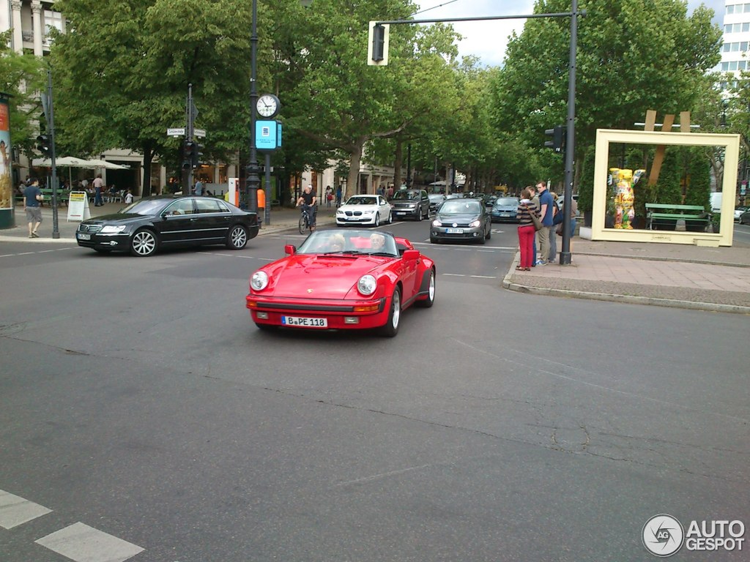
{"label": "grey asphalt road surface of the intersection", "polygon": [[395,339],[257,330],[299,235],[4,244],[0,491],[51,511],[3,528],[0,492],[0,560],[76,560],[34,541],[77,523],[138,562],[648,561],[657,514],[750,525],[745,316],[503,291],[514,226],[381,228],[437,262]]}

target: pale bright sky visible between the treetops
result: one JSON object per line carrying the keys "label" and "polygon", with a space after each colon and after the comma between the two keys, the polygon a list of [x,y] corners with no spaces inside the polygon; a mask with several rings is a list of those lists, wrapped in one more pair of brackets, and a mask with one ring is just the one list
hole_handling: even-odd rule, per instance
{"label": "pale bright sky visible between the treetops", "polygon": [[[533,13],[533,0],[414,0],[422,13],[414,19],[438,19],[451,17],[511,16]],[[688,14],[695,7],[706,4],[714,10],[714,23],[723,24],[724,0],[688,0]],[[434,9],[428,10],[428,8]],[[508,43],[508,35],[513,31],[523,31],[525,19],[494,19],[480,22],[456,22],[458,33],[465,37],[458,44],[460,56],[475,55],[481,64],[500,66]]]}

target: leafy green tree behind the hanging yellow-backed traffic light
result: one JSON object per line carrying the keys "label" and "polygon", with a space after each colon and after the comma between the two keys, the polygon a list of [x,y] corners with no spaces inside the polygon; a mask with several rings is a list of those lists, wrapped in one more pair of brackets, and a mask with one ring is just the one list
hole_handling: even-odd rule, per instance
{"label": "leafy green tree behind the hanging yellow-backed traffic light", "polygon": [[[428,115],[439,117],[436,107],[455,99],[452,71],[442,56],[455,55],[449,28],[393,25],[389,65],[366,62],[368,22],[413,11],[404,0],[317,0],[305,10],[305,34],[292,41],[292,33],[283,31],[284,43],[276,43],[296,76],[285,94],[285,122],[295,133],[348,154],[345,196],[357,189],[368,143],[407,132]],[[290,19],[289,25],[299,29],[299,21]]]}

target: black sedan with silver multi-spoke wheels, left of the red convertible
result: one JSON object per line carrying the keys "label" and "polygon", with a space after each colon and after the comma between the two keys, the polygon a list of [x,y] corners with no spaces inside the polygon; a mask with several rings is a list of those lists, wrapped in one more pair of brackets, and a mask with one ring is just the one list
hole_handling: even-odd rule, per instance
{"label": "black sedan with silver multi-spoke wheels, left of the red convertible", "polygon": [[159,248],[225,244],[242,250],[258,235],[258,216],[214,197],[155,196],[118,213],[84,220],[76,231],[79,246],[97,252],[120,250],[151,256]]}

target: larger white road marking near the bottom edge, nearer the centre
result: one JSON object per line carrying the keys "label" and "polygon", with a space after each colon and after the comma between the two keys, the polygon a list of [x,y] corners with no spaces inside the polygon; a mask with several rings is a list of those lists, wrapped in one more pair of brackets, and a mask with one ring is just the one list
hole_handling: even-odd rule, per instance
{"label": "larger white road marking near the bottom edge, nearer the centre", "polygon": [[143,552],[133,545],[81,522],[55,531],[34,543],[76,562],[124,562]]}

